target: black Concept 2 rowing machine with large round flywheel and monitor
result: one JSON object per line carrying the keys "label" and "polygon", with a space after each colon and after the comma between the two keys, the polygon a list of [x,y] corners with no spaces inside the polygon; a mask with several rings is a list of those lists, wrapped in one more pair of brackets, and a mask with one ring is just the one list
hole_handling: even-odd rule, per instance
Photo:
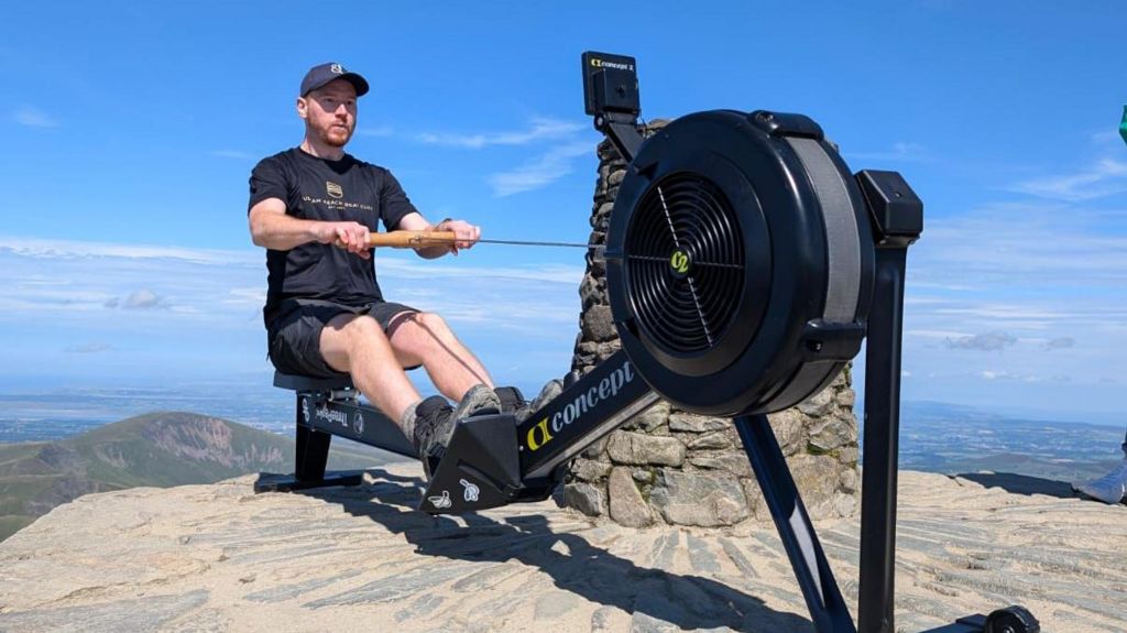
{"label": "black Concept 2 rowing machine with large round flywheel and monitor", "polygon": [[[543,499],[571,457],[665,399],[733,418],[815,628],[891,633],[904,279],[907,248],[923,230],[922,202],[899,173],[851,175],[802,115],[703,112],[644,139],[635,60],[588,52],[583,70],[587,114],[629,163],[605,249],[622,350],[520,424],[511,413],[459,424],[449,446],[425,457],[433,475],[419,509]],[[767,413],[829,384],[866,338],[854,627]],[[331,435],[411,454],[398,428],[356,403],[354,391],[302,385],[298,480],[323,476]],[[357,429],[349,416],[364,424]],[[1008,607],[943,631],[1039,625]]]}

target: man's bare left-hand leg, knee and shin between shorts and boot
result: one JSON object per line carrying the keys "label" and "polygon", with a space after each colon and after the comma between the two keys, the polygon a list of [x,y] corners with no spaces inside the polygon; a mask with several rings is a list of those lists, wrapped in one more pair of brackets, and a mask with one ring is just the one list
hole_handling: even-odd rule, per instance
{"label": "man's bare left-hand leg, knee and shin between shorts and boot", "polygon": [[352,374],[356,389],[396,424],[420,400],[375,319],[338,314],[321,330],[320,345],[325,362]]}

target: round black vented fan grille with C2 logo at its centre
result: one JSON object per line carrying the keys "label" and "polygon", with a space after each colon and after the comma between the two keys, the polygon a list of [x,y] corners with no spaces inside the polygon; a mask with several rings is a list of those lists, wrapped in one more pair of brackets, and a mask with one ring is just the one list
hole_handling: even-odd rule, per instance
{"label": "round black vented fan grille with C2 logo at its centre", "polygon": [[724,338],[743,295],[742,237],[731,203],[708,178],[676,172],[650,186],[630,217],[623,257],[653,342],[692,356]]}

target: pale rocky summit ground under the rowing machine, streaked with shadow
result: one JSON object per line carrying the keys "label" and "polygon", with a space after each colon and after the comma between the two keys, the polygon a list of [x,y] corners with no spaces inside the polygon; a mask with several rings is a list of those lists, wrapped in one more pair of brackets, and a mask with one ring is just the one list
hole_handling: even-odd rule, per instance
{"label": "pale rocky summit ground under the rowing machine, streaked with shadow", "polygon": [[[414,511],[415,464],[356,489],[82,497],[0,543],[0,631],[813,631],[770,525],[631,529],[545,501]],[[902,473],[897,624],[1023,604],[1127,631],[1127,507],[1020,475]],[[818,521],[857,599],[858,520]]]}

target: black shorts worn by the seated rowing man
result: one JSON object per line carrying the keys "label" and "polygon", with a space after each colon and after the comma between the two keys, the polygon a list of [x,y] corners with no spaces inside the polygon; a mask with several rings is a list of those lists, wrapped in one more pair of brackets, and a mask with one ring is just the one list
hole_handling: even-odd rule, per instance
{"label": "black shorts worn by the seated rowing man", "polygon": [[283,374],[325,378],[346,375],[330,367],[321,356],[321,330],[325,326],[340,314],[362,314],[375,319],[390,336],[388,328],[391,326],[392,316],[402,312],[418,312],[418,310],[388,301],[360,307],[328,301],[311,301],[294,305],[274,319],[267,330],[270,362]]}

